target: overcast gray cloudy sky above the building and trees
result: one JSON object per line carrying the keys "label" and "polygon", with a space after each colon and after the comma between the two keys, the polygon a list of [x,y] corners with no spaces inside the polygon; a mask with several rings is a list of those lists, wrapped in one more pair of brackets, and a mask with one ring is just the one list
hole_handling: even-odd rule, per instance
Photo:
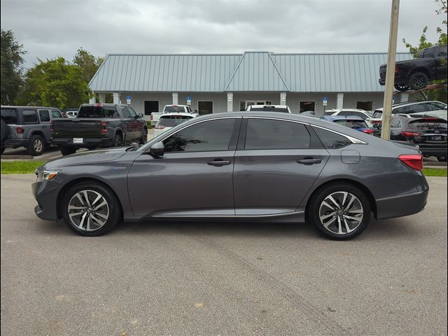
{"label": "overcast gray cloudy sky above the building and trees", "polygon": [[[391,0],[1,0],[1,28],[41,59],[151,52],[387,51]],[[442,22],[434,0],[401,0],[402,38],[428,40]]]}

